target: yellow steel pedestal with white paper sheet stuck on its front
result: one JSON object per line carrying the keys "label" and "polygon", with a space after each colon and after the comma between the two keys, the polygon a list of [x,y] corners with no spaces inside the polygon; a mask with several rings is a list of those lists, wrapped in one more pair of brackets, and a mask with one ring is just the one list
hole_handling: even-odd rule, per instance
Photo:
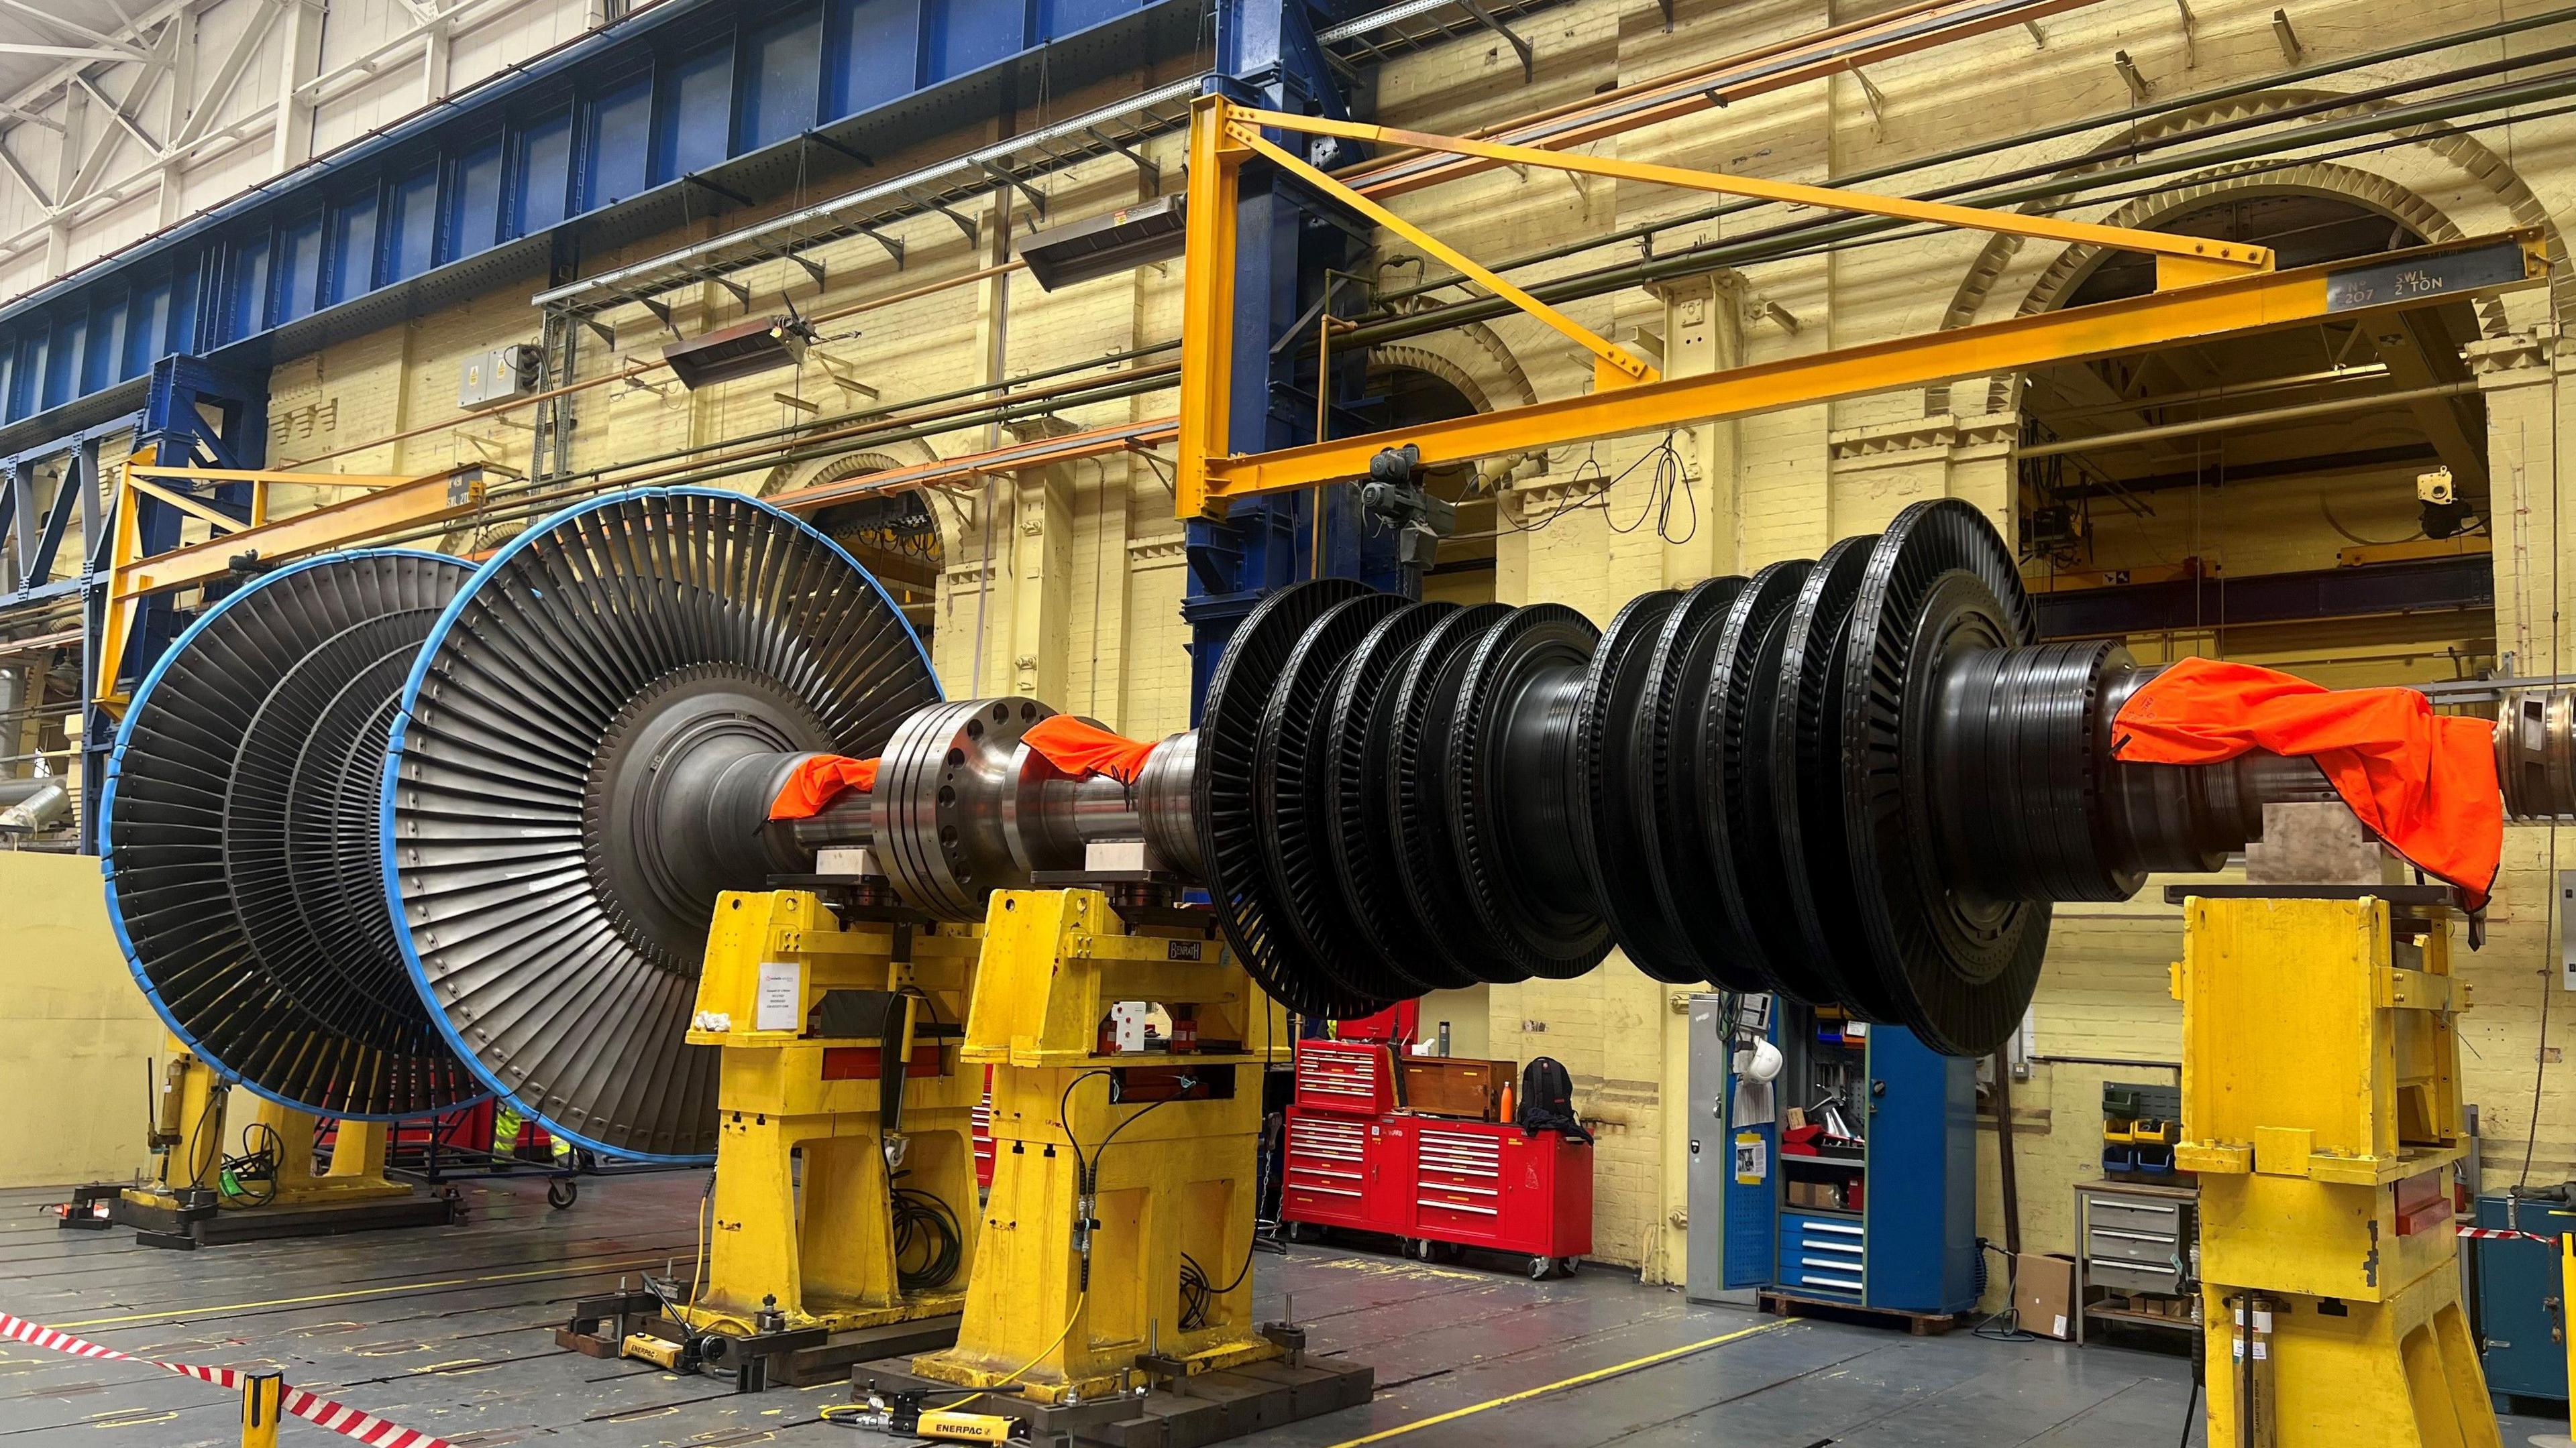
{"label": "yellow steel pedestal with white paper sheet stuck on its front", "polygon": [[[724,1051],[706,1281],[675,1311],[698,1332],[832,1332],[953,1314],[974,1262],[979,1067],[956,1025],[974,982],[971,928],[848,928],[801,889],[726,891],[706,940],[688,1041]],[[886,1031],[891,1007],[894,1031]],[[904,1064],[909,1069],[904,1072]],[[889,1172],[886,1072],[902,1074]],[[958,1268],[927,1239],[902,1252],[894,1190],[948,1208]]]}

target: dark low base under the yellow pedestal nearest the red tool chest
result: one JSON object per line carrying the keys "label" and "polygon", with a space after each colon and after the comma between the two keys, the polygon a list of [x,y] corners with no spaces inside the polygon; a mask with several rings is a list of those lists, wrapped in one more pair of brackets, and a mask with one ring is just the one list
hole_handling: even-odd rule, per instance
{"label": "dark low base under the yellow pedestal nearest the red tool chest", "polygon": [[[855,1396],[866,1396],[871,1384],[902,1391],[953,1391],[951,1384],[912,1376],[909,1358],[886,1358],[850,1368]],[[1370,1399],[1376,1384],[1376,1368],[1334,1358],[1301,1358],[1296,1366],[1273,1360],[1198,1373],[1177,1384],[1182,1391],[1154,1389],[1144,1396],[1069,1407],[1038,1404],[1002,1391],[979,1399],[974,1412],[1002,1412],[1025,1420],[1033,1443],[1206,1448],[1208,1443],[1360,1407]]]}

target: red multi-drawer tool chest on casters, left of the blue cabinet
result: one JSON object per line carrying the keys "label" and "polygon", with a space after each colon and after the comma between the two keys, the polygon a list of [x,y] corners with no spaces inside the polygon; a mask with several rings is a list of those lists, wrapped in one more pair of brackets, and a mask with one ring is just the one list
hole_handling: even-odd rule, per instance
{"label": "red multi-drawer tool chest on casters, left of the blue cabinet", "polygon": [[1548,1275],[1592,1250],[1592,1147],[1396,1110],[1386,1046],[1303,1041],[1280,1203],[1288,1221],[1515,1252]]}

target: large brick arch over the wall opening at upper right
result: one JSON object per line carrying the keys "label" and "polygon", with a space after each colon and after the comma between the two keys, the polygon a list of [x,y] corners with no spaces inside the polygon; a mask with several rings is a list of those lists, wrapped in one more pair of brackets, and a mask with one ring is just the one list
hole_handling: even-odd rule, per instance
{"label": "large brick arch over the wall opening at upper right", "polygon": [[[2092,147],[2081,157],[2069,160],[2058,170],[2058,175],[2084,175],[2094,170],[2107,170],[2141,139],[2161,139],[2177,131],[2192,131],[2221,121],[2267,116],[2293,106],[2334,100],[2336,95],[2339,93],[2334,90],[2311,90],[2311,88],[2264,90],[2257,95],[2239,95],[2210,106],[2195,106],[2190,111],[2174,111],[2169,116],[2154,116]],[[2393,103],[2388,100],[2367,100],[2367,103],[2354,103],[2347,111],[2329,111],[2326,116],[2372,113],[2372,111],[2388,111],[2391,106]],[[2506,165],[2504,157],[2499,157],[2476,137],[2460,134],[2447,124],[2409,126],[2396,139],[2398,144],[2416,144],[2452,162],[2455,167],[2468,173],[2476,183],[2481,183],[2488,191],[2488,196],[2494,196],[2496,204],[2506,209],[2506,214],[2514,219],[2517,227],[2537,227],[2543,232],[2543,247],[2550,260],[2550,312],[2561,319],[2561,325],[2576,322],[2576,278],[2571,278],[2566,268],[2568,260],[2566,242],[2561,240],[2558,227],[2550,222],[2548,209],[2540,204],[2537,196],[2532,196],[2530,186],[2522,183],[2514,167]],[[2439,206],[2424,201],[2411,188],[2385,175],[2334,162],[2267,167],[2267,162],[2249,160],[2223,167],[2210,167],[2205,173],[2187,175],[2177,180],[2172,188],[2156,191],[2154,196],[2141,196],[2120,206],[2110,216],[2102,216],[2102,222],[2115,227],[2143,227],[2159,216],[2200,206],[2215,196],[2251,193],[2251,191],[2267,191],[2267,193],[2308,191],[2316,196],[2354,201],[2396,222],[2403,222],[2409,229],[2414,229],[2427,240],[2455,240],[2463,234],[2460,227]],[[2012,265],[2020,250],[2022,250],[2020,237],[1986,240],[1986,245],[1978,250],[1978,258],[1968,265],[1968,276],[1960,278],[1947,312],[1942,314],[1942,330],[1965,327],[1976,322],[1976,317],[1989,307],[1996,283],[2002,281],[2004,271]],[[2066,247],[2048,265],[2048,271],[2040,273],[2040,281],[2032,283],[2030,294],[2022,296],[2014,312],[2027,317],[2032,312],[2045,312],[2056,307],[2071,291],[2071,286],[2081,281],[2084,273],[2092,271],[2092,263],[2097,258],[2099,247],[2081,247],[2081,245]],[[2483,296],[2478,299],[2476,307],[2478,307],[2478,330],[2488,338],[2504,335],[2506,330],[2504,304],[2494,296]],[[2020,389],[2017,376],[1989,379],[1989,407],[2009,410],[2017,389]],[[1924,415],[1929,417],[1947,410],[1950,410],[1950,386],[1947,384],[1927,386]]]}

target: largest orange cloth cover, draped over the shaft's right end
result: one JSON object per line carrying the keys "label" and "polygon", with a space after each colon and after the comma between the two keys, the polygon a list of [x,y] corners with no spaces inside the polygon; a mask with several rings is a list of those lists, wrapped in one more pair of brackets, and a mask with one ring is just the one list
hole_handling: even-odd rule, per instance
{"label": "largest orange cloth cover, draped over the shaft's right end", "polygon": [[2352,814],[2424,873],[2486,904],[2504,853],[2504,799],[2486,719],[2432,711],[2411,688],[2321,688],[2221,660],[2182,660],[2112,721],[2112,755],[2210,765],[2249,750],[2308,755]]}

